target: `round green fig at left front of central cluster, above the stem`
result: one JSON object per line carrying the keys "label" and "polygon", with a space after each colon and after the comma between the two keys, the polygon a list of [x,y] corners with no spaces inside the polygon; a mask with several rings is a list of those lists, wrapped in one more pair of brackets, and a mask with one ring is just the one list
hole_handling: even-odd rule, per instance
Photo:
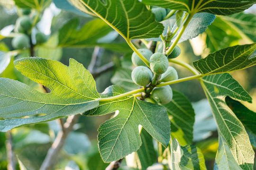
{"label": "round green fig at left front of central cluster, above the stem", "polygon": [[151,82],[152,72],[145,66],[138,66],[132,70],[132,81],[137,84],[146,87]]}

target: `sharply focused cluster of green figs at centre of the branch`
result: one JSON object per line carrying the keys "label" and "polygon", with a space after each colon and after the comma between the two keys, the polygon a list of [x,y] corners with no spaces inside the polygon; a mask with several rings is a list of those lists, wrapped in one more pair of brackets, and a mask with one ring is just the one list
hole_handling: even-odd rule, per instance
{"label": "sharply focused cluster of green figs at centre of the branch", "polygon": [[[143,86],[145,89],[152,84],[154,76],[159,77],[157,84],[169,82],[178,79],[178,73],[175,68],[169,66],[168,58],[176,58],[180,55],[180,48],[176,46],[174,51],[166,57],[161,52],[153,54],[148,49],[138,50],[150,63],[150,68],[139,58],[137,53],[132,54],[132,63],[136,66],[131,74],[135,84]],[[170,85],[154,87],[150,92],[150,98],[160,104],[167,104],[173,99],[173,91]]]}

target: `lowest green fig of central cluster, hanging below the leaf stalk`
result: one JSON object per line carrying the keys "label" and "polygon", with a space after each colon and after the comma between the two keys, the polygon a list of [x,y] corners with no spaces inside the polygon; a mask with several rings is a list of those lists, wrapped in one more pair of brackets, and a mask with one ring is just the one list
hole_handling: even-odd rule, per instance
{"label": "lowest green fig of central cluster, hanging below the leaf stalk", "polygon": [[161,104],[167,104],[173,99],[173,90],[170,85],[155,87],[151,92],[151,98]]}

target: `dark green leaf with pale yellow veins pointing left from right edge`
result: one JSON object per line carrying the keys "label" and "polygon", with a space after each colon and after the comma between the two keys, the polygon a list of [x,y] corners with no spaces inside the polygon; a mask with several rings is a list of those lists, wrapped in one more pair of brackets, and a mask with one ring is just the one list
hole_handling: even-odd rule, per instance
{"label": "dark green leaf with pale yellow veins pointing left from right edge", "polygon": [[228,73],[256,65],[256,43],[237,45],[209,54],[193,62],[204,75]]}

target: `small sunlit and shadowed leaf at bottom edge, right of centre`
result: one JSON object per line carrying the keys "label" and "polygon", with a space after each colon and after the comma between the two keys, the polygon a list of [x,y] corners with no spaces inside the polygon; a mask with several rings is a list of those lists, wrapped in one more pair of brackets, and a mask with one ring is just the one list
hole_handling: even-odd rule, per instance
{"label": "small sunlit and shadowed leaf at bottom edge, right of centre", "polygon": [[180,146],[177,139],[172,141],[171,170],[206,170],[201,150],[194,145]]}

